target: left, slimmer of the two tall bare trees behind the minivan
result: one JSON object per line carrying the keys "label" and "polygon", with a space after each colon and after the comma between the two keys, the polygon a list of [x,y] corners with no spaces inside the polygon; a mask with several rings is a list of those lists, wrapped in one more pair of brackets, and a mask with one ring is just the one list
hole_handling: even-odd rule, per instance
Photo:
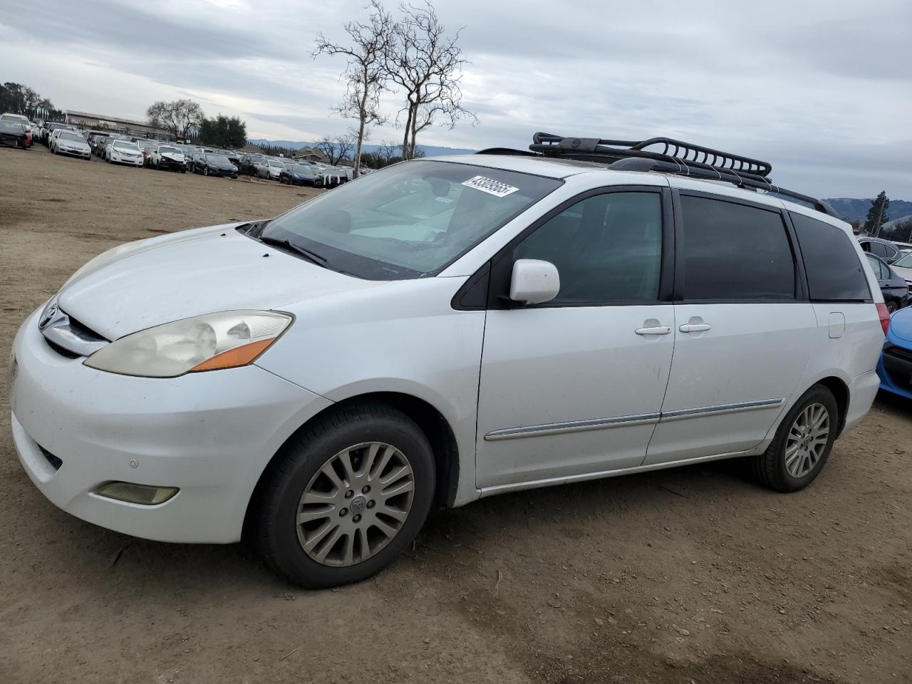
{"label": "left, slimmer of the two tall bare trees behind the minivan", "polygon": [[333,110],[346,119],[358,119],[355,147],[355,171],[358,178],[361,171],[361,149],[368,138],[370,126],[384,123],[386,118],[380,111],[380,92],[388,80],[384,68],[390,41],[394,37],[394,24],[389,12],[379,0],[371,0],[368,9],[368,23],[350,21],[345,25],[351,39],[349,45],[331,43],[319,33],[316,35],[317,55],[344,55],[348,64],[342,75],[347,82],[345,97]]}

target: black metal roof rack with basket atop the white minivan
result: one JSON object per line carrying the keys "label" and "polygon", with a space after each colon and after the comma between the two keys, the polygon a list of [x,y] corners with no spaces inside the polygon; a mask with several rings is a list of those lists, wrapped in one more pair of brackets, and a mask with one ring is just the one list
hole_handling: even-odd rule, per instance
{"label": "black metal roof rack with basket atop the white minivan", "polygon": [[[826,202],[774,185],[769,178],[772,171],[772,164],[769,161],[712,150],[671,138],[650,138],[640,141],[599,140],[535,133],[529,150],[543,157],[599,161],[608,164],[608,168],[615,171],[661,171],[702,180],[730,182],[739,188],[762,190],[804,202],[818,212],[839,218],[839,214]],[[483,153],[529,154],[504,148],[483,150]]]}

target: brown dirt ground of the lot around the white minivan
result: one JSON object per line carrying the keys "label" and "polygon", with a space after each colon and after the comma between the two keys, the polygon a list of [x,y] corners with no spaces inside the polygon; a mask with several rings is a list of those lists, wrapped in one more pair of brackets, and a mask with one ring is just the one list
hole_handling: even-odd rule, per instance
{"label": "brown dirt ground of the lot around the white minivan", "polygon": [[[0,150],[0,345],[115,244],[312,192]],[[0,683],[912,682],[910,413],[878,398],[803,492],[719,463],[508,494],[326,592],[60,512],[3,420]]]}

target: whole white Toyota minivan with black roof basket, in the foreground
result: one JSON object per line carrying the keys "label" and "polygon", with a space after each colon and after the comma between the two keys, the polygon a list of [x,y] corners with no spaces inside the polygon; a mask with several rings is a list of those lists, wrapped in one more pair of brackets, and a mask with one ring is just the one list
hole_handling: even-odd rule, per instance
{"label": "whole white Toyota minivan with black roof basket, in the foreground", "polygon": [[29,477],[122,533],[245,534],[312,587],[388,565],[432,505],[728,458],[812,482],[879,384],[850,227],[717,150],[531,149],[99,255],[16,335]]}

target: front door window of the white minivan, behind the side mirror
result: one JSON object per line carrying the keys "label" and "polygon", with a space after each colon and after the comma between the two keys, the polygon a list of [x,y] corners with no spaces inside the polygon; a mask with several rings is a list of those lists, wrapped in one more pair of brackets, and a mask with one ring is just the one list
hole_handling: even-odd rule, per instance
{"label": "front door window of the white minivan, behind the side mirror", "polygon": [[658,192],[609,192],[560,212],[513,248],[513,261],[557,267],[560,292],[543,306],[658,299],[662,209]]}

